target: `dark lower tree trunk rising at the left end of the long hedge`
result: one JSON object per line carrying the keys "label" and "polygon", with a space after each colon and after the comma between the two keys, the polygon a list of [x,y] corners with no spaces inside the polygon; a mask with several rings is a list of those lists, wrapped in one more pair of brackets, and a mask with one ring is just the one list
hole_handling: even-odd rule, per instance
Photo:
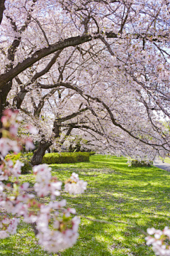
{"label": "dark lower tree trunk rising at the left end of the long hedge", "polygon": [[34,151],[33,158],[31,159],[31,164],[33,166],[42,163],[42,157],[45,155],[45,151],[52,145],[52,142],[41,141],[38,145],[38,149]]}

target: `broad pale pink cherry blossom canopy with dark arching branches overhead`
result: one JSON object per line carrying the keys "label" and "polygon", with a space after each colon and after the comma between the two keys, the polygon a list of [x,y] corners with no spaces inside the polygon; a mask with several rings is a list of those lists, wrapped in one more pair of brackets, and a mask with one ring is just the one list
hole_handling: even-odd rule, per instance
{"label": "broad pale pink cherry blossom canopy with dark arching branches overhead", "polygon": [[65,88],[86,101],[89,122],[74,129],[96,137],[96,146],[104,142],[108,151],[136,158],[169,152],[159,122],[169,118],[169,2],[6,0],[4,6],[1,112],[10,98],[23,108],[30,92],[40,90],[42,99]]}

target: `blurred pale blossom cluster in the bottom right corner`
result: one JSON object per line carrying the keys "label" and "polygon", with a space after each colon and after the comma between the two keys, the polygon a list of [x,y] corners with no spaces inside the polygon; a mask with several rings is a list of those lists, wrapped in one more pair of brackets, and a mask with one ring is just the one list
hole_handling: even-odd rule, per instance
{"label": "blurred pale blossom cluster in the bottom right corner", "polygon": [[156,230],[155,228],[147,228],[149,236],[145,238],[147,245],[152,245],[152,249],[156,255],[169,256],[170,245],[166,242],[170,240],[170,229],[165,227],[164,230]]}

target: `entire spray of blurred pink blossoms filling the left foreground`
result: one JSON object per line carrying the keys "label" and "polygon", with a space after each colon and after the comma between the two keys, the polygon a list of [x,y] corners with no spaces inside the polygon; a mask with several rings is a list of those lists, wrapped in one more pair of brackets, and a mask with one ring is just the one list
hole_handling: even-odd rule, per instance
{"label": "entire spray of blurred pink blossoms filling the left foreground", "polygon": [[[33,226],[35,235],[45,250],[58,252],[74,245],[79,235],[80,220],[77,216],[72,218],[71,214],[75,214],[76,210],[67,208],[65,200],[56,201],[56,196],[60,196],[62,182],[51,175],[51,169],[46,164],[33,167],[36,182],[30,187],[28,182],[21,184],[18,179],[23,164],[16,161],[13,165],[11,160],[4,159],[9,151],[18,153],[22,144],[26,144],[26,139],[23,141],[17,137],[19,121],[18,112],[11,110],[6,110],[1,119],[4,127],[1,129],[0,139],[0,208],[4,215],[0,217],[0,238],[7,238],[16,233],[22,217],[23,221]],[[28,144],[33,146],[30,140]],[[10,176],[13,178],[13,184],[4,183]],[[65,184],[65,191],[83,193],[86,189],[86,182],[80,181],[78,174],[72,174],[68,182]],[[67,184],[70,185],[69,188]],[[50,203],[40,203],[40,198],[48,195],[51,198]],[[12,214],[13,218],[6,216],[8,213]]]}

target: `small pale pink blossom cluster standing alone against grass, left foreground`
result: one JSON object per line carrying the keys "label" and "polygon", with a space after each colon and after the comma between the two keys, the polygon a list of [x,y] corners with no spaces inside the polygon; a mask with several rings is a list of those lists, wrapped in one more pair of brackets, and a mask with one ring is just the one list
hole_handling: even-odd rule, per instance
{"label": "small pale pink blossom cluster standing alone against grass, left foreground", "polygon": [[86,181],[80,181],[79,175],[72,173],[72,176],[65,182],[64,190],[69,192],[70,194],[79,194],[84,193],[86,190]]}

